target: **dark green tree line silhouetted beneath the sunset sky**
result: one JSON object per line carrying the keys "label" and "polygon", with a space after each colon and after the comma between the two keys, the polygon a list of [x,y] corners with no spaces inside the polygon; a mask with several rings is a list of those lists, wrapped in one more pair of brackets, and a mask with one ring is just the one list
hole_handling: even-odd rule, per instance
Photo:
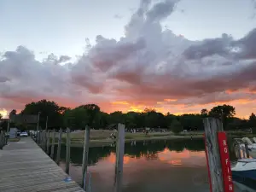
{"label": "dark green tree line silhouetted beneath the sunset sky", "polygon": [[[38,115],[40,113],[39,126],[44,129],[48,119],[49,129],[58,129],[60,127],[70,127],[71,129],[84,129],[89,125],[94,129],[109,129],[118,123],[125,124],[126,128],[166,128],[180,131],[183,130],[203,130],[203,118],[214,117],[221,119],[225,130],[240,130],[256,127],[256,116],[251,114],[249,119],[240,119],[235,117],[236,109],[230,105],[218,105],[210,110],[201,109],[200,113],[184,113],[174,115],[172,113],[160,113],[154,108],[145,108],[142,113],[128,112],[122,113],[115,111],[113,113],[104,113],[96,104],[80,105],[77,108],[65,108],[55,102],[41,100],[26,104],[25,108],[16,113],[12,110],[12,115]],[[21,129],[34,129],[36,125],[29,125],[25,122],[20,124],[11,123],[11,126]],[[0,127],[6,129],[7,122],[3,121]]]}

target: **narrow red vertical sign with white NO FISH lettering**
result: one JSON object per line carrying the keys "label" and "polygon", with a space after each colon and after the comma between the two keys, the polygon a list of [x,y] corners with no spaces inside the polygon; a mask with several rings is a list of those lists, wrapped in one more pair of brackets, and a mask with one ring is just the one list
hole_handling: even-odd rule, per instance
{"label": "narrow red vertical sign with white NO FISH lettering", "polygon": [[226,133],[224,131],[218,132],[218,148],[223,172],[224,192],[234,192],[230,166],[230,154]]}

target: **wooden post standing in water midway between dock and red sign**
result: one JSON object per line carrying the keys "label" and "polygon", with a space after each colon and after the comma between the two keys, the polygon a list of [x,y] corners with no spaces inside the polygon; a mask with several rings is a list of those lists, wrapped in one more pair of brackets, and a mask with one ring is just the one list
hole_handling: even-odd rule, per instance
{"label": "wooden post standing in water midway between dock and red sign", "polygon": [[119,124],[117,145],[116,145],[114,192],[122,191],[124,154],[125,154],[125,125]]}

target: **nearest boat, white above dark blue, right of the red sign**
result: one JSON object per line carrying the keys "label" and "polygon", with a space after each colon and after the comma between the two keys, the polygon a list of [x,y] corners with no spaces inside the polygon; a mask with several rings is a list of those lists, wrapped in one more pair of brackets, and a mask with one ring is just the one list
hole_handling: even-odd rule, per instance
{"label": "nearest boat, white above dark blue, right of the red sign", "polygon": [[251,189],[256,189],[256,159],[237,160],[236,166],[231,168],[232,178]]}

